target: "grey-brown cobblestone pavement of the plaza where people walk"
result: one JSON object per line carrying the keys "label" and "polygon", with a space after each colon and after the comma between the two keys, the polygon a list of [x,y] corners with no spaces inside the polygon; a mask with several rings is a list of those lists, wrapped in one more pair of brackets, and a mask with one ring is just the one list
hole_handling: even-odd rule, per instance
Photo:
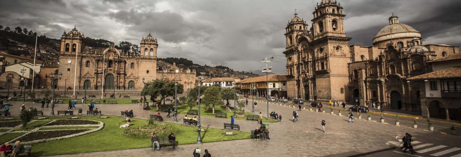
{"label": "grey-brown cobblestone pavement of the plaza where people walk", "polygon": [[[11,111],[13,116],[18,116],[18,106],[20,102],[13,102]],[[31,104],[31,103],[30,103]],[[33,105],[27,104],[32,107]],[[82,105],[77,105],[82,107]],[[39,104],[35,104],[39,107]],[[57,110],[64,110],[66,104],[58,104],[55,107]],[[96,104],[102,110],[104,115],[120,115],[120,111],[126,108],[133,109],[135,118],[148,118],[149,114],[154,114],[152,111],[143,111],[139,104]],[[160,151],[152,151],[150,148],[120,150],[120,151],[104,151],[82,154],[59,155],[56,157],[79,157],[79,156],[100,156],[100,157],[115,157],[115,156],[130,156],[136,153],[139,157],[148,157],[157,153],[162,156],[192,156],[194,148],[198,147],[202,150],[208,149],[214,157],[253,157],[266,155],[269,157],[275,156],[291,156],[291,157],[347,157],[358,154],[363,154],[371,151],[378,151],[380,155],[402,156],[405,154],[393,152],[398,151],[386,150],[394,145],[398,145],[398,139],[401,139],[405,132],[412,134],[417,141],[422,144],[430,143],[433,146],[447,146],[440,151],[461,147],[461,137],[455,135],[443,135],[437,131],[425,131],[423,129],[411,129],[409,125],[396,126],[389,123],[379,123],[374,118],[373,121],[364,119],[355,119],[354,123],[349,123],[349,120],[344,115],[338,116],[337,112],[331,115],[330,113],[320,113],[311,111],[299,111],[299,123],[293,123],[291,120],[294,108],[269,105],[270,112],[275,111],[282,115],[282,122],[270,123],[271,140],[254,141],[254,140],[233,140],[223,142],[204,143],[203,145],[180,145],[176,150],[171,147],[166,147]],[[83,107],[86,113],[87,107]],[[327,108],[329,109],[329,108]],[[42,110],[46,115],[50,108],[38,109]],[[328,110],[327,110],[328,111]],[[266,104],[259,103],[256,112],[266,112]],[[165,113],[161,113],[164,115]],[[183,115],[178,115],[178,123],[182,123]],[[320,122],[326,119],[326,133],[321,131]],[[365,116],[363,118],[366,118]],[[165,118],[166,122],[172,122],[173,118]],[[230,119],[202,117],[202,127],[223,128],[223,123],[229,123]],[[241,125],[242,131],[253,130],[259,127],[256,121],[236,120],[236,124]],[[423,125],[424,126],[424,125]],[[204,135],[204,138],[207,138]],[[180,137],[177,137],[180,138]],[[386,144],[388,143],[388,144]],[[389,145],[389,143],[391,143]],[[417,145],[415,145],[417,146]],[[421,147],[422,148],[430,148]],[[384,151],[382,151],[384,150]],[[419,151],[418,149],[416,151]],[[436,152],[428,151],[418,155],[431,157],[430,154]],[[454,151],[441,155],[440,157],[450,157],[461,153]],[[363,154],[364,156],[374,157],[376,154]],[[405,155],[407,156],[407,155]]]}

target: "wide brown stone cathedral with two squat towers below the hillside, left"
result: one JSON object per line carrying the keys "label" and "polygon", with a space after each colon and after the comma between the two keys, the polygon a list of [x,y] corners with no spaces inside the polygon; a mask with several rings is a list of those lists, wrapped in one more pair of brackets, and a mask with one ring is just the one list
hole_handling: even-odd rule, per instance
{"label": "wide brown stone cathedral with two squat towers below the hillside, left", "polygon": [[85,47],[84,34],[77,28],[64,32],[59,63],[54,71],[62,73],[62,79],[54,88],[142,90],[145,82],[154,79],[178,81],[184,90],[195,86],[195,70],[184,70],[175,64],[169,69],[157,67],[157,39],[150,33],[142,37],[140,45],[140,53],[122,52],[113,43],[107,48]]}

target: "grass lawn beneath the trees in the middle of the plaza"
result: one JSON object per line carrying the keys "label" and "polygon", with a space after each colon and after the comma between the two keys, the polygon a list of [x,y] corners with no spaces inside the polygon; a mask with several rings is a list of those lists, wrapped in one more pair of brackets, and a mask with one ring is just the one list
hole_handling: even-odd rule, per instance
{"label": "grass lawn beneath the trees in the middle of the plaza", "polygon": [[[231,105],[232,106],[232,105]],[[162,107],[170,107],[171,109],[174,107],[174,105],[162,105]],[[232,106],[233,107],[233,106]],[[247,108],[247,107],[245,107]],[[182,104],[182,105],[178,105],[177,106],[177,112],[178,114],[187,114],[187,111],[189,111],[190,107],[187,106],[187,104]],[[198,110],[198,107],[193,107],[192,110]],[[214,107],[214,112],[226,112],[227,113],[227,118],[228,119],[231,119],[231,116],[234,115],[234,112],[233,112],[233,108],[231,108],[232,112],[227,112],[226,109],[225,109],[225,105],[218,105],[218,106],[215,106]],[[152,107],[151,111],[156,111],[156,108],[155,107]],[[250,110],[251,111],[251,108]],[[240,115],[241,114],[241,111],[239,109],[236,110],[236,114],[237,115]],[[245,112],[245,116],[246,115],[256,115],[254,113],[251,113],[251,112]],[[264,114],[263,114],[264,115]],[[200,105],[200,116],[206,116],[206,117],[214,117],[214,114],[213,114],[213,109],[210,108],[210,110],[205,110],[205,105]],[[247,118],[239,118],[237,117],[237,119],[239,120],[246,120]],[[275,119],[272,119],[272,118],[269,118],[267,119],[266,117],[263,116],[262,118],[262,121],[263,122],[278,122],[277,120]]]}

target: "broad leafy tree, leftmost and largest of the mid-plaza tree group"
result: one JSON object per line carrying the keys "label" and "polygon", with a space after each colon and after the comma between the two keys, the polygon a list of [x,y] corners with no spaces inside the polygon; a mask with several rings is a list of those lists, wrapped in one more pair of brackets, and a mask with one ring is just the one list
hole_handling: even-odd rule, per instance
{"label": "broad leafy tree, leftmost and largest of the mid-plaza tree group", "polygon": [[[177,94],[182,94],[184,91],[184,85],[177,85]],[[165,82],[163,79],[155,79],[149,81],[144,85],[144,88],[141,91],[141,95],[150,95],[150,100],[160,97],[160,101],[157,101],[156,107],[159,109],[161,102],[168,96],[174,96],[175,94],[175,85],[174,82]]]}

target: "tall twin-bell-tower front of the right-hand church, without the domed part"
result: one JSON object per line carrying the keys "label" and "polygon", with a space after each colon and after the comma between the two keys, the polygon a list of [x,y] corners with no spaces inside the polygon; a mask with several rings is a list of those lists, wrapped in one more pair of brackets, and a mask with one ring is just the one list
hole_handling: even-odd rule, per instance
{"label": "tall twin-bell-tower front of the right-hand church, without the domed part", "polygon": [[312,26],[295,13],[285,28],[288,95],[293,98],[345,100],[350,61],[343,7],[322,0],[313,11]]}

